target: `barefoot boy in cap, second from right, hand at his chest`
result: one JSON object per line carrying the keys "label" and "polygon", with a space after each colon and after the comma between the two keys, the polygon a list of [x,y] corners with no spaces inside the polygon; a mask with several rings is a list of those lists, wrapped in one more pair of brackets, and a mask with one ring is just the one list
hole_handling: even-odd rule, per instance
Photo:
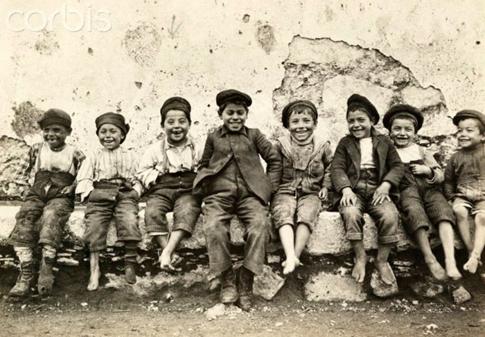
{"label": "barefoot boy in cap, second from right, hand at his chest", "polygon": [[[436,280],[445,280],[447,276],[459,279],[461,274],[455,261],[453,235],[455,216],[439,189],[444,180],[443,170],[430,152],[414,143],[423,120],[420,111],[406,104],[391,107],[382,118],[382,124],[389,130],[389,136],[405,165],[399,199],[403,225],[416,240]],[[427,230],[432,224],[438,227],[446,271],[431,251]]]}

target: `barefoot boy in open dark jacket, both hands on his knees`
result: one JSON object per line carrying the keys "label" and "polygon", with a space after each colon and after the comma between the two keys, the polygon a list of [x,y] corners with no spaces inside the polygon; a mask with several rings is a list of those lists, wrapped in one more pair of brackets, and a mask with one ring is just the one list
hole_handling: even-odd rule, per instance
{"label": "barefoot boy in open dark jacket, both hands on his knees", "polygon": [[386,284],[395,282],[387,258],[392,244],[398,242],[398,211],[389,193],[397,197],[404,166],[391,140],[373,125],[379,120],[376,107],[367,98],[353,94],[347,101],[347,124],[350,134],[340,140],[333,156],[330,176],[334,205],[346,226],[346,237],[355,251],[352,276],[363,282],[367,255],[362,242],[363,213],[378,226],[376,268]]}

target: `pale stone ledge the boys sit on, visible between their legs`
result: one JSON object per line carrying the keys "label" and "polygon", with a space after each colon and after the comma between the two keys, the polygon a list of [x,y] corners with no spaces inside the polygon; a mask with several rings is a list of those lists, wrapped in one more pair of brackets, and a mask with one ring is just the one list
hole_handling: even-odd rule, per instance
{"label": "pale stone ledge the boys sit on, visible between their legs", "polygon": [[[15,226],[15,215],[19,211],[19,203],[17,204],[4,204],[0,205],[0,245],[6,245],[6,239],[12,228]],[[86,206],[76,206],[74,212],[69,218],[68,226],[64,236],[64,241],[71,244],[77,244],[82,246],[82,235],[85,232],[85,224],[83,221],[84,212]],[[145,223],[143,221],[145,215],[145,203],[140,203],[139,212],[139,228],[143,234],[143,241],[139,247],[143,250],[148,250],[152,247],[150,243],[150,237],[148,237],[145,230]],[[167,215],[169,226],[172,226],[173,216],[172,213]],[[374,226],[373,221],[369,215],[364,215],[366,224],[364,226],[364,246],[366,250],[377,248],[377,228]],[[231,221],[231,243],[240,246],[244,244],[243,234],[244,228],[238,222],[236,217]],[[277,239],[275,236],[274,239]],[[397,244],[398,251],[405,251],[410,248],[416,248],[416,245],[409,240],[407,233],[401,224],[398,226],[398,235],[400,241]],[[439,238],[436,230],[433,228],[430,231],[430,239],[432,246],[439,246]],[[114,224],[109,226],[107,235],[108,246],[118,246],[120,243],[116,242],[116,230]],[[455,246],[461,248],[461,242],[455,238]],[[181,248],[199,249],[205,247],[205,239],[202,233],[202,217],[197,221],[195,232],[193,236],[184,239],[181,243]],[[345,238],[345,230],[342,219],[338,212],[321,212],[319,215],[319,221],[315,230],[310,237],[310,241],[307,246],[307,253],[310,255],[344,255],[351,252],[351,245]]]}

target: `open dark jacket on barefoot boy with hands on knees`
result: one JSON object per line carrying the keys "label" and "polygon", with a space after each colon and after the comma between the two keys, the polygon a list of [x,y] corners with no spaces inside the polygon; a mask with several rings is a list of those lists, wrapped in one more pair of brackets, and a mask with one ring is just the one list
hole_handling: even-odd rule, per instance
{"label": "open dark jacket on barefoot boy with hands on knees", "polygon": [[[391,197],[398,199],[398,188],[404,175],[404,165],[389,137],[380,134],[376,129],[371,130],[373,160],[378,170],[378,183],[391,183]],[[352,135],[342,138],[335,149],[330,170],[333,188],[333,205],[336,206],[342,198],[343,188],[355,188],[360,179],[360,144]]]}

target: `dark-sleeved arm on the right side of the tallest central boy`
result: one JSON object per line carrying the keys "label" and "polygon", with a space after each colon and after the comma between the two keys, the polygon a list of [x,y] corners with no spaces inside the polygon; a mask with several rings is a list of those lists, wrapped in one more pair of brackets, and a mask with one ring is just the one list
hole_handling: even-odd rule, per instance
{"label": "dark-sleeved arm on the right side of the tallest central boy", "polygon": [[276,191],[279,188],[279,182],[281,179],[281,173],[283,171],[283,161],[281,154],[276,150],[276,147],[266,138],[266,136],[259,130],[254,129],[256,149],[261,157],[266,162],[266,174],[269,176],[273,185],[273,190]]}

